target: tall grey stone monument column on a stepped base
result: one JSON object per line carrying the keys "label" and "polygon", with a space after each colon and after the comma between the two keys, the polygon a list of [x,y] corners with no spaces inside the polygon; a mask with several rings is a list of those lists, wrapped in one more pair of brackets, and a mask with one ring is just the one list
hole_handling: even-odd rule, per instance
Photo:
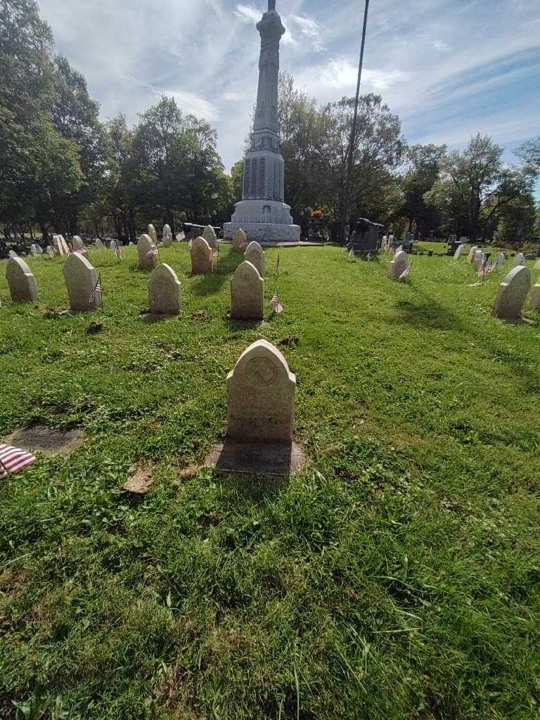
{"label": "tall grey stone monument column on a stepped base", "polygon": [[232,240],[242,228],[248,240],[261,244],[298,242],[300,226],[292,224],[291,209],[284,203],[285,161],[277,134],[279,41],[285,28],[275,0],[269,0],[268,12],[257,30],[261,34],[261,56],[251,147],[244,160],[242,200],[236,204],[231,222],[225,222],[223,235],[225,240]]}

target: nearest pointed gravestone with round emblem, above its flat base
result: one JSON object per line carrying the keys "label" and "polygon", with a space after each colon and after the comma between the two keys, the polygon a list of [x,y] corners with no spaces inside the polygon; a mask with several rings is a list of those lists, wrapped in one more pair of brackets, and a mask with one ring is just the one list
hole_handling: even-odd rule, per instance
{"label": "nearest pointed gravestone with round emblem, above its flat base", "polygon": [[292,441],[296,377],[287,360],[266,340],[240,355],[227,378],[230,438],[241,441]]}

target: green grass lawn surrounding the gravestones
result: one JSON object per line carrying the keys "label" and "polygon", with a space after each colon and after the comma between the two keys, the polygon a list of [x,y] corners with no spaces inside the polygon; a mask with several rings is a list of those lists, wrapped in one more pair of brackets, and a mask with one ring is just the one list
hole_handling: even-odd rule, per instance
{"label": "green grass lawn surrounding the gravestones", "polygon": [[[161,250],[184,315],[155,324],[135,248],[90,251],[91,315],[45,314],[67,307],[60,259],[29,261],[37,307],[0,264],[0,436],[87,433],[0,487],[0,717],[539,716],[540,323],[490,316],[511,261],[479,281],[415,256],[397,284],[387,256],[279,254],[285,312],[269,273],[260,327],[227,318],[228,248],[207,278]],[[226,431],[240,353],[291,337],[309,466],[184,477]],[[147,461],[153,487],[126,497]]]}

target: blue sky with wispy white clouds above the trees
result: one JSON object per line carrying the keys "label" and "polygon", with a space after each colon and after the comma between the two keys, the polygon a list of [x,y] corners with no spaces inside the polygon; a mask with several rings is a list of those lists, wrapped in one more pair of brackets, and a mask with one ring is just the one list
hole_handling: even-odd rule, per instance
{"label": "blue sky with wispy white clouds above the trees", "polygon": [[[219,132],[240,158],[256,98],[266,0],[38,0],[58,53],[84,73],[102,119],[161,94]],[[321,102],[354,94],[364,2],[277,0],[281,66]],[[495,137],[507,158],[540,133],[539,0],[372,0],[364,91],[382,94],[413,143]]]}

